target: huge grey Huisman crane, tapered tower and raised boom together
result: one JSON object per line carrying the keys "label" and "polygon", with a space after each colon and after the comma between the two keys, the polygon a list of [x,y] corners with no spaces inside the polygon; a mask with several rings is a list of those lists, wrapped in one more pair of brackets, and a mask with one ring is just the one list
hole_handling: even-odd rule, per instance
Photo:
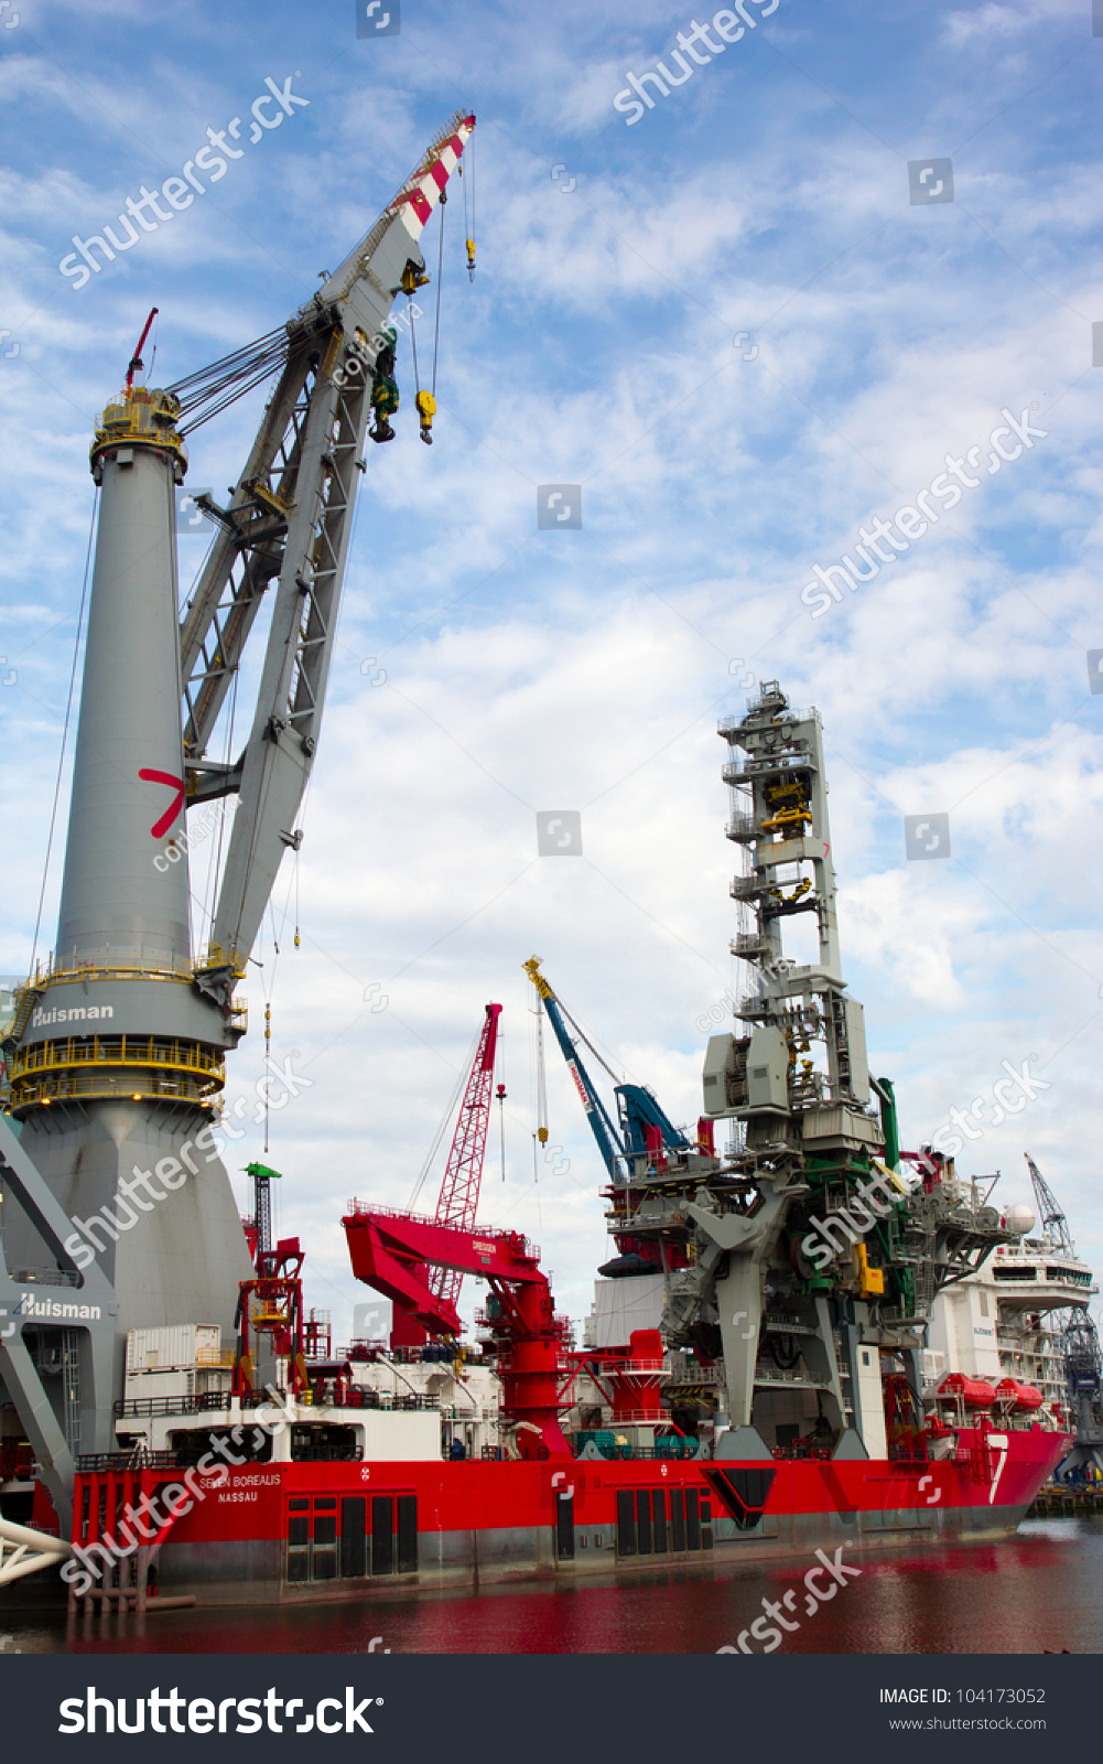
{"label": "huge grey Huisman crane, tapered tower and raised boom together", "polygon": [[[55,1503],[78,1452],[115,1445],[130,1330],[220,1323],[233,1339],[252,1272],[217,1136],[226,1055],[247,1027],[234,986],[280,859],[301,840],[372,416],[372,439],[393,436],[388,318],[428,280],[419,236],[472,127],[467,113],[449,120],[287,325],[169,388],[136,385],[136,355],[95,427],[95,566],[58,935],[5,1044],[19,1140],[0,1117],[0,1401],[14,1401]],[[180,617],[185,436],[273,379],[227,506],[203,499],[217,538]],[[416,404],[426,437],[435,406],[428,393]],[[266,596],[252,730],[220,764],[208,744]],[[238,813],[211,937],[196,949],[185,808],[229,796]],[[58,1297],[41,1304],[44,1291]],[[44,1387],[44,1367],[58,1387]]]}

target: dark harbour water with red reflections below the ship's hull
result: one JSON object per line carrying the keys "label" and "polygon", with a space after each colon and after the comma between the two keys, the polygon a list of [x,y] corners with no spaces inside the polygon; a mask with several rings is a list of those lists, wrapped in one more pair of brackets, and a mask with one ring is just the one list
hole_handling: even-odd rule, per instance
{"label": "dark harbour water with red reflections below the ship's hull", "polygon": [[[800,1628],[784,1653],[1099,1653],[1103,1521],[1022,1526],[971,1549],[851,1556],[862,1568],[839,1596],[805,1614],[802,1577],[814,1558],[758,1568],[626,1573],[559,1588],[488,1588],[412,1598],[243,1612],[181,1611],[146,1621],[2,1616],[9,1651],[25,1653],[715,1653],[791,1600]],[[0,1611],[4,1607],[0,1605]],[[761,1648],[761,1644],[756,1644]]]}

